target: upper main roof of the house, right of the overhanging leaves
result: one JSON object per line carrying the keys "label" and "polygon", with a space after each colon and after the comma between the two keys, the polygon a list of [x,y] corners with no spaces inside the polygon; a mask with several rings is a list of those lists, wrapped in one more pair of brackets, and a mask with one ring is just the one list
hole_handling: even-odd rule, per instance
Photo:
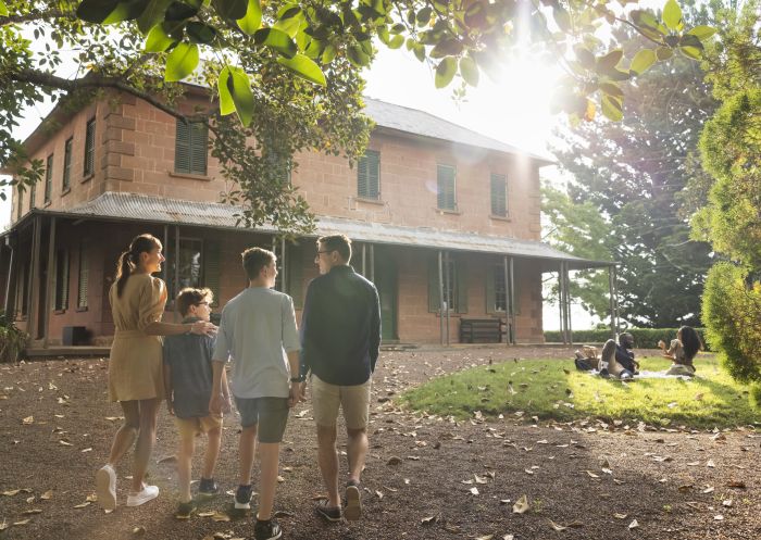
{"label": "upper main roof of the house, right of the overhanging leaves", "polygon": [[410,109],[371,98],[365,98],[364,104],[365,114],[380,127],[471,147],[497,150],[498,152],[525,155],[544,164],[554,163],[551,158],[526,152],[517,147],[492,139],[417,109]]}

